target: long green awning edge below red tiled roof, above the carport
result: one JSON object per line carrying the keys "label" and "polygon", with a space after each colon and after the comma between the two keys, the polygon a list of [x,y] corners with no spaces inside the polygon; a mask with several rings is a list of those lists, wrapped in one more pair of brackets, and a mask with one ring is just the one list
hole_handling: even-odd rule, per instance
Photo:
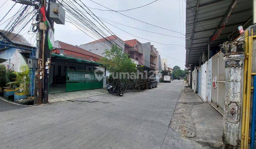
{"label": "long green awning edge below red tiled roof, above the carport", "polygon": [[76,62],[78,64],[84,64],[84,65],[90,65],[90,66],[100,66],[101,65],[99,62],[78,59],[78,58],[69,57],[69,56],[60,55],[60,54],[52,54],[51,57],[52,58],[54,57],[55,60],[60,60],[63,62]]}

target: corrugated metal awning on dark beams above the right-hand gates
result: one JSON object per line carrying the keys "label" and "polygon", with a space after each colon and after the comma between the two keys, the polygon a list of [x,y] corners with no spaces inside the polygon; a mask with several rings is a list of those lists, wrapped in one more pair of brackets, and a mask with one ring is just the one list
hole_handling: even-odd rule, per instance
{"label": "corrugated metal awning on dark beams above the right-hand gates", "polygon": [[[186,67],[208,59],[208,46],[238,37],[238,26],[252,24],[252,0],[187,0]],[[210,55],[211,57],[211,55]]]}

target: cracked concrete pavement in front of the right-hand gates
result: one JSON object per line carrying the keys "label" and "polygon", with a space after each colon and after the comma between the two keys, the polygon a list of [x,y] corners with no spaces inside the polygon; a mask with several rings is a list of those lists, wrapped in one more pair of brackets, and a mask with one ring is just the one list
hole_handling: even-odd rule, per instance
{"label": "cracked concrete pavement in front of the right-hand gates", "polygon": [[185,86],[169,127],[210,148],[222,148],[223,116]]}

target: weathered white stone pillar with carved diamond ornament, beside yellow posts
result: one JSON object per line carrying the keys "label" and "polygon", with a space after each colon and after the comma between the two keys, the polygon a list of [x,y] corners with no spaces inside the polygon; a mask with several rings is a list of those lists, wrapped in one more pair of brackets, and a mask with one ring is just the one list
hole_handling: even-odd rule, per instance
{"label": "weathered white stone pillar with carved diamond ornament, beside yellow posts", "polygon": [[241,132],[241,105],[242,84],[244,73],[244,46],[243,41],[224,42],[223,53],[225,61],[225,99],[223,142],[224,148],[240,147]]}

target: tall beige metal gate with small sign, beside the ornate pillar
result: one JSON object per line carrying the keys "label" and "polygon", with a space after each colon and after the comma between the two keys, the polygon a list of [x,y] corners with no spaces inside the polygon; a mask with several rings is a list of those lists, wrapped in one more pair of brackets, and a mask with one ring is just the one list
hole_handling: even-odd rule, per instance
{"label": "tall beige metal gate with small sign, beside the ornate pillar", "polygon": [[224,54],[217,53],[211,59],[211,101],[210,104],[217,109],[222,115],[224,113],[224,97],[225,97],[225,62]]}

